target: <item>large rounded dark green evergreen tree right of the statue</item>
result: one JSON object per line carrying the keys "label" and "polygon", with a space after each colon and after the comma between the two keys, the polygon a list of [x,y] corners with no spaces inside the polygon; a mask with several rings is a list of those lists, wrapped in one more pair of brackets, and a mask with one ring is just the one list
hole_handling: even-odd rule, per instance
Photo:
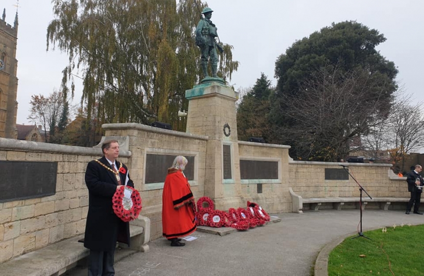
{"label": "large rounded dark green evergreen tree right of the statue", "polygon": [[397,68],[375,49],[385,40],[344,21],[294,42],[275,63],[271,142],[291,145],[295,158],[345,157],[348,141],[386,118],[393,102]]}

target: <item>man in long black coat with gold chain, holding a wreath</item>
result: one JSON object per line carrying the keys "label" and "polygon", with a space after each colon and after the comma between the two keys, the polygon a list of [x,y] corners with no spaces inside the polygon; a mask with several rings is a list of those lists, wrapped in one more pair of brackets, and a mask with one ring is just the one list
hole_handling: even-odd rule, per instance
{"label": "man in long black coat with gold chain, holding a wreath", "polygon": [[134,187],[134,183],[129,178],[128,168],[116,160],[118,142],[103,143],[102,151],[103,157],[89,162],[85,171],[89,195],[84,237],[84,246],[90,249],[88,276],[114,275],[116,242],[130,244],[129,224],[113,212],[112,197],[121,185]]}

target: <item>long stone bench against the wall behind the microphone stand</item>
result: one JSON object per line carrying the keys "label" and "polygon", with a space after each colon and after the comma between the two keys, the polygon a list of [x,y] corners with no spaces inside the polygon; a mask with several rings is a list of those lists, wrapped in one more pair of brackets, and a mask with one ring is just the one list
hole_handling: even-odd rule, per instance
{"label": "long stone bench against the wall behind the microphone stand", "polygon": [[[292,197],[292,212],[293,213],[302,213],[303,204],[310,204],[310,209],[318,211],[322,203],[333,203],[333,209],[341,210],[342,206],[346,202],[356,202],[356,208],[359,208],[359,197],[316,197],[316,198],[303,198],[300,195],[293,192],[293,189],[289,188],[290,195]],[[368,196],[362,196],[362,210],[365,209],[365,206],[368,202],[378,202],[380,203],[380,208],[387,211],[389,205],[392,202],[408,202],[409,197],[373,197],[370,199]]]}

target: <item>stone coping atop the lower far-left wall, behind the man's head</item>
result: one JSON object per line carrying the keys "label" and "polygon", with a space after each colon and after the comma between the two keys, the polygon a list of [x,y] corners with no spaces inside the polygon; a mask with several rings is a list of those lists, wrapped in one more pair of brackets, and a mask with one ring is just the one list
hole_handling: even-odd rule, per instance
{"label": "stone coping atop the lower far-left wall, behind the man's head", "polygon": [[[102,150],[99,148],[86,148],[77,146],[66,146],[50,143],[22,141],[8,138],[0,138],[0,150],[17,150],[32,152],[66,153],[75,155],[98,155],[102,156]],[[121,150],[121,157],[130,157],[131,151]]]}

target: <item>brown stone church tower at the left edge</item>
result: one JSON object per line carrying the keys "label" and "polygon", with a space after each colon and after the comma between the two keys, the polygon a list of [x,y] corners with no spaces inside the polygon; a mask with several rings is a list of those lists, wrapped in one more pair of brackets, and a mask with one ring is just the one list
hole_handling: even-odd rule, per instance
{"label": "brown stone church tower at the left edge", "polygon": [[0,137],[16,139],[16,101],[18,79],[16,44],[18,35],[18,13],[13,26],[6,23],[6,9],[0,20]]}

